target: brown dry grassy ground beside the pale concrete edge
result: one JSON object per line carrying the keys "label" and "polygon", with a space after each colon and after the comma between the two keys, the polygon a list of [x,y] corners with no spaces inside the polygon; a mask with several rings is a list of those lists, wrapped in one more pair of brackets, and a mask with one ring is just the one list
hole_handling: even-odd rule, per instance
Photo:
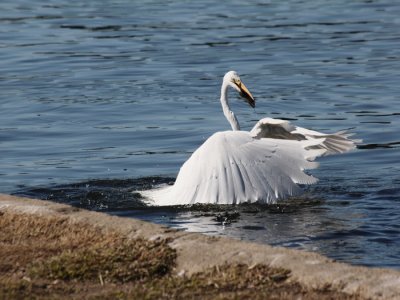
{"label": "brown dry grassy ground beside the pale concrete edge", "polygon": [[67,217],[0,211],[0,299],[361,299],[330,286],[306,288],[290,271],[265,265],[178,276],[168,242]]}

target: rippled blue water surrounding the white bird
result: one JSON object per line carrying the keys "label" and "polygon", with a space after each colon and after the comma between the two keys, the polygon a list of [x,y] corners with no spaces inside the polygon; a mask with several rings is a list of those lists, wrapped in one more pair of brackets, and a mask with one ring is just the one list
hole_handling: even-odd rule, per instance
{"label": "rippled blue water surrounding the white bird", "polygon": [[[400,2],[230,3],[2,1],[0,192],[400,269]],[[257,99],[232,99],[243,129],[272,116],[364,144],[320,159],[301,199],[145,207],[132,191],[229,129],[231,69]]]}

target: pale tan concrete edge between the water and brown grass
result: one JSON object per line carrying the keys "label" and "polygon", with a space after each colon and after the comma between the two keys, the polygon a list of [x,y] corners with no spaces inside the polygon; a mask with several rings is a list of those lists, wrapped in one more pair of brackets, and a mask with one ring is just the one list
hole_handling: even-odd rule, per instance
{"label": "pale tan concrete edge between the water and brown grass", "polygon": [[331,286],[374,299],[400,298],[400,272],[395,270],[351,266],[317,253],[176,231],[132,218],[4,194],[0,194],[1,211],[67,217],[72,222],[117,230],[129,237],[170,239],[171,247],[178,253],[176,272],[179,274],[192,274],[224,263],[266,264],[289,269],[293,279],[308,287]]}

